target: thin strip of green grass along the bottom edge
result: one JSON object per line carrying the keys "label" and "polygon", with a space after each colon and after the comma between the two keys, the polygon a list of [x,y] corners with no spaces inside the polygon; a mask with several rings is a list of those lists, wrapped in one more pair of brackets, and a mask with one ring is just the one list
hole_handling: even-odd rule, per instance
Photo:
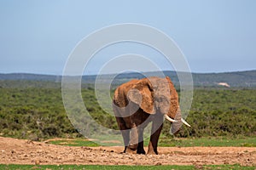
{"label": "thin strip of green grass along the bottom edge", "polygon": [[206,165],[206,166],[104,166],[104,165],[3,165],[0,169],[254,169],[240,165]]}

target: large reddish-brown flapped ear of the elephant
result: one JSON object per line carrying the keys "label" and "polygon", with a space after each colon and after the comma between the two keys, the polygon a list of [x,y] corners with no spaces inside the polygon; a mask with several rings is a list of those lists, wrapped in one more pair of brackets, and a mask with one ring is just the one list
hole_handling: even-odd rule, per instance
{"label": "large reddish-brown flapped ear of the elephant", "polygon": [[128,99],[140,105],[148,114],[154,114],[154,90],[148,78],[143,78],[135,84],[127,94]]}

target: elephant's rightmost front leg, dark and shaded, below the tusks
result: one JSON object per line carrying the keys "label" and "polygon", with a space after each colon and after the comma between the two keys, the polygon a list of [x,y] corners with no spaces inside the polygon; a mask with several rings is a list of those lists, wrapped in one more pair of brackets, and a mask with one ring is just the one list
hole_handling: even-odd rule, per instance
{"label": "elephant's rightmost front leg, dark and shaded, below the tusks", "polygon": [[151,136],[148,144],[148,153],[158,155],[157,144],[160,137],[160,132],[163,127],[163,119],[159,118],[157,121],[152,123]]}

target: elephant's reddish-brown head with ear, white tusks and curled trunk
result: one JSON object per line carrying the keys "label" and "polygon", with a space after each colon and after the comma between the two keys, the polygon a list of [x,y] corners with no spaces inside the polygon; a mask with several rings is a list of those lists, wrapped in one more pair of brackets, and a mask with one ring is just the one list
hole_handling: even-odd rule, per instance
{"label": "elephant's reddish-brown head with ear, white tusks and curled trunk", "polygon": [[169,77],[143,78],[132,86],[127,97],[148,114],[163,114],[168,121],[173,122],[172,133],[177,132],[182,122],[190,126],[181,116],[177,91]]}

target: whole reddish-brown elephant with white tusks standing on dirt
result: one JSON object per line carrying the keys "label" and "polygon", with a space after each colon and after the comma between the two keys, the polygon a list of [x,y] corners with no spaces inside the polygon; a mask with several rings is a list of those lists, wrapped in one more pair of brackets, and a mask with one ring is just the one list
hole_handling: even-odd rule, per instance
{"label": "whole reddish-brown elephant with white tusks standing on dirt", "polygon": [[158,155],[157,144],[164,118],[172,122],[172,133],[182,124],[177,91],[169,77],[145,77],[120,85],[113,94],[113,113],[125,144],[125,152],[146,154],[143,130],[152,122],[147,154]]}

